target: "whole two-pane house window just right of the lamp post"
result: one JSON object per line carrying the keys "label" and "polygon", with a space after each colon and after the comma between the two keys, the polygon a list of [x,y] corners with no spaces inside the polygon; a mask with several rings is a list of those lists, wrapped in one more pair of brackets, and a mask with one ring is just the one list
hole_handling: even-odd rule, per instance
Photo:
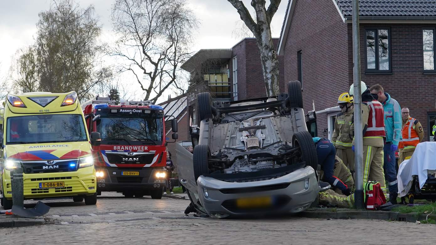
{"label": "whole two-pane house window just right of the lamp post", "polygon": [[366,72],[391,71],[390,30],[366,30]]}

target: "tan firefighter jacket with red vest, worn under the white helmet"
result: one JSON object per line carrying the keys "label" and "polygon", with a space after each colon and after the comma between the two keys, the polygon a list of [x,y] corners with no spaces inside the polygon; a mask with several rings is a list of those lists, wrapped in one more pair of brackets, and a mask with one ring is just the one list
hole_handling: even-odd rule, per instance
{"label": "tan firefighter jacket with red vest, worn under the white helmet", "polygon": [[362,129],[364,145],[374,147],[385,145],[384,111],[383,106],[377,100],[362,102]]}

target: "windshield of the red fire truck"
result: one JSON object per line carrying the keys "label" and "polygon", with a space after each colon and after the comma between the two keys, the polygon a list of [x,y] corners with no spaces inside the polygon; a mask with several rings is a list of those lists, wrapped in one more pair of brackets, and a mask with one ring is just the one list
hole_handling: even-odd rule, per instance
{"label": "windshield of the red fire truck", "polygon": [[[163,114],[102,114],[97,121],[102,144],[162,144]],[[125,144],[120,142],[119,144]]]}

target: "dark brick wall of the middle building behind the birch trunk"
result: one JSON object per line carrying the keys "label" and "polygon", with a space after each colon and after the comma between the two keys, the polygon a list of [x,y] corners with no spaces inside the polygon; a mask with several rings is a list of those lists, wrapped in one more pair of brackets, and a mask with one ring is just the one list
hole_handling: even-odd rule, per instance
{"label": "dark brick wall of the middle building behind the birch trunk", "polygon": [[[279,39],[273,39],[277,47]],[[238,100],[265,97],[266,89],[263,78],[262,63],[256,40],[246,38],[232,48],[232,57],[238,59]],[[229,63],[230,80],[232,80],[232,60]],[[283,57],[279,57],[279,84],[284,91]],[[233,88],[232,88],[233,89]]]}

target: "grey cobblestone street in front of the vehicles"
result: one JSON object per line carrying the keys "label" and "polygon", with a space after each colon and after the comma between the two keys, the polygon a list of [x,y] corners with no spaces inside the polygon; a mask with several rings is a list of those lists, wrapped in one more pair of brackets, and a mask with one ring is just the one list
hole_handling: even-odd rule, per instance
{"label": "grey cobblestone street in front of the vehicles", "polygon": [[[35,201],[26,201],[27,207]],[[3,228],[2,244],[423,244],[435,225],[371,220],[324,220],[286,215],[211,219],[183,214],[189,201],[99,196],[97,205],[45,201],[51,224]]]}

